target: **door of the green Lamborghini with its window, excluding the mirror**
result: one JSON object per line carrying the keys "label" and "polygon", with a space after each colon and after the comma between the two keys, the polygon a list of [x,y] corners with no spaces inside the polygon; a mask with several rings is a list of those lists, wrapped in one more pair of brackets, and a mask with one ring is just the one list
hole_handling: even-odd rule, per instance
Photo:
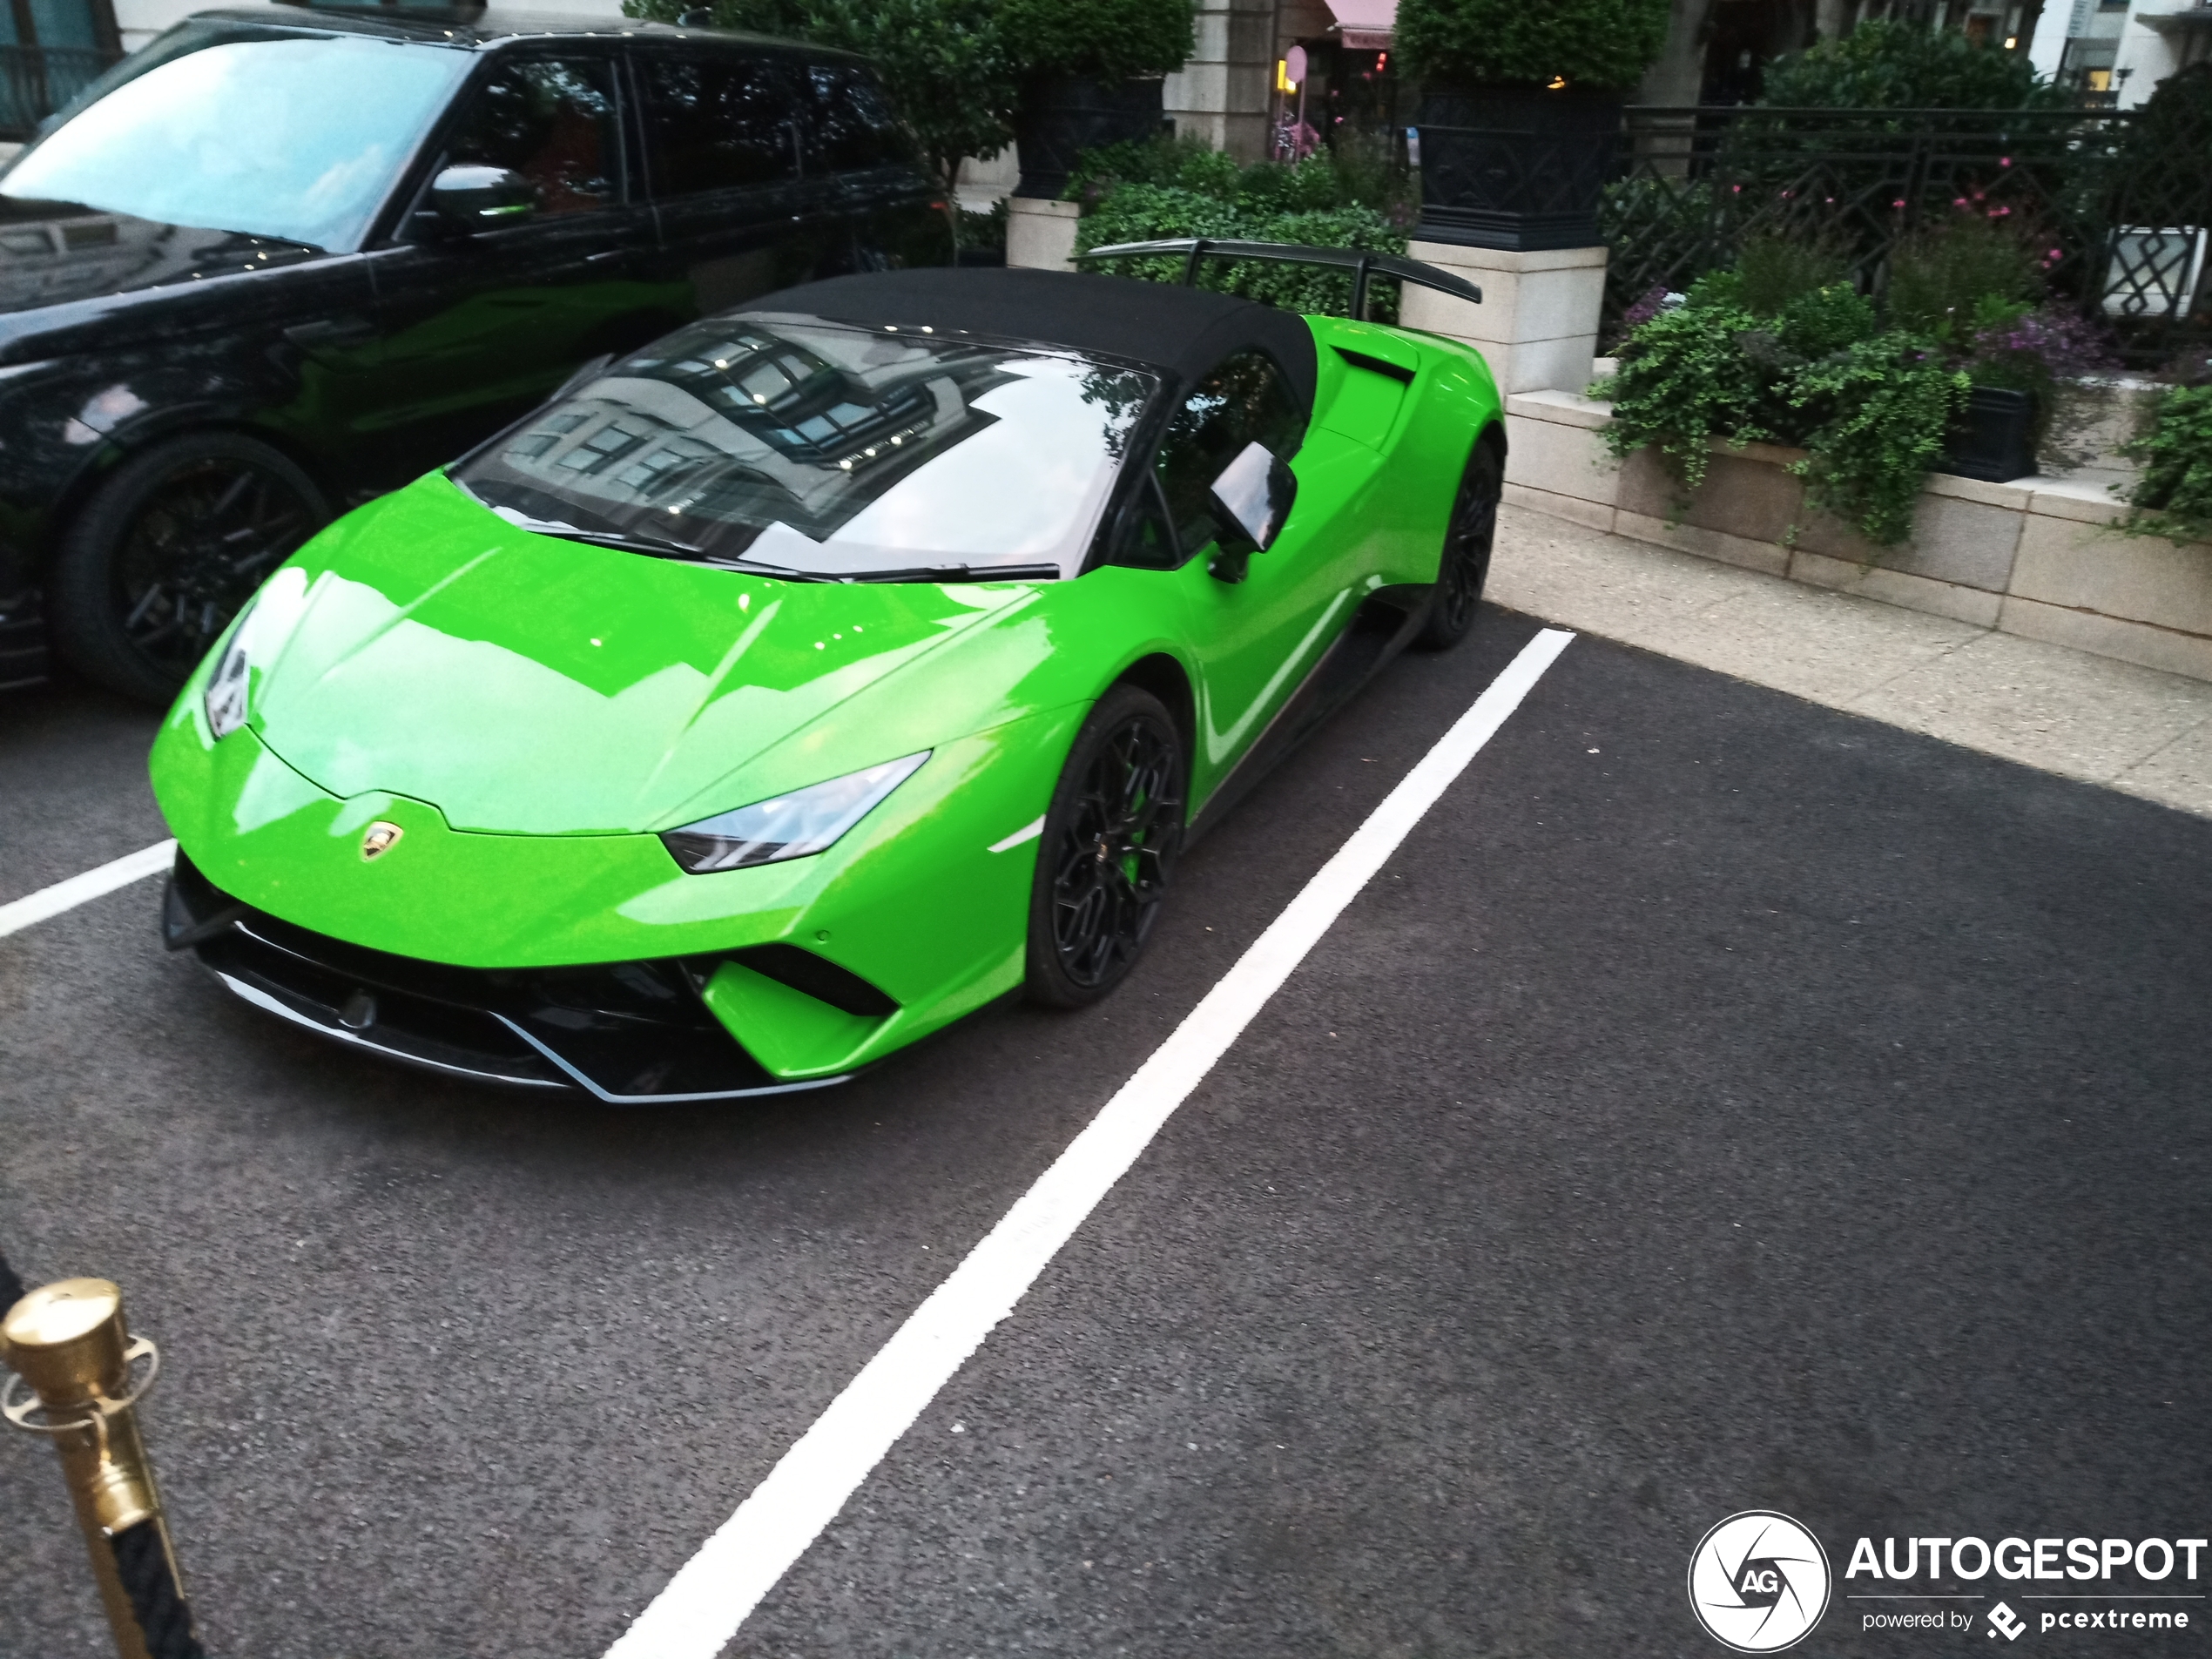
{"label": "door of the green Lamborghini with its window, excluding the mirror", "polygon": [[[1301,502],[1274,546],[1221,557],[1208,493],[1245,445],[1281,460],[1296,456]],[[1343,456],[1347,440],[1307,434],[1307,411],[1281,365],[1261,347],[1230,352],[1201,374],[1155,453],[1157,511],[1164,524],[1137,535],[1166,540],[1183,560],[1190,604],[1190,659],[1197,670],[1194,787],[1208,790],[1252,748],[1345,630],[1363,564],[1329,504],[1338,480],[1321,473],[1347,462],[1371,471],[1374,453]],[[1316,489],[1314,484],[1329,487]]]}

